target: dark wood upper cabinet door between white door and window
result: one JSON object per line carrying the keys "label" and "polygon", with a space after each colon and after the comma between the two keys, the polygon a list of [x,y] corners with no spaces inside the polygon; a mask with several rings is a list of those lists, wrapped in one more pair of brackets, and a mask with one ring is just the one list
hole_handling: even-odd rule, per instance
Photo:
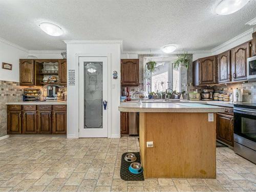
{"label": "dark wood upper cabinet door between white door and window", "polygon": [[139,86],[139,59],[121,59],[121,85]]}

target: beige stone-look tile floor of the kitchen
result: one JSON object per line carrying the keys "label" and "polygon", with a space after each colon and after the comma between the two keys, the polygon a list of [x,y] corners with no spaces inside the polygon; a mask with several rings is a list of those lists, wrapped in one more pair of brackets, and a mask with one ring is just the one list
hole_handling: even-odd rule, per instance
{"label": "beige stone-look tile floor of the kitchen", "polygon": [[66,139],[10,137],[0,141],[0,191],[256,191],[256,165],[217,148],[217,179],[120,179],[122,153],[135,137]]}

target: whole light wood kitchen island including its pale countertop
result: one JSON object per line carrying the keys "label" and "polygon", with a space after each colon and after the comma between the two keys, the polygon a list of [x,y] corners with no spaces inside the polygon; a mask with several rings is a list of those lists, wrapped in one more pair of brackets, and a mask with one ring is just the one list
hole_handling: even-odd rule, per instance
{"label": "whole light wood kitchen island including its pale countertop", "polygon": [[[198,103],[122,102],[140,112],[139,141],[145,178],[216,178],[216,113]],[[153,147],[147,142],[153,141]]]}

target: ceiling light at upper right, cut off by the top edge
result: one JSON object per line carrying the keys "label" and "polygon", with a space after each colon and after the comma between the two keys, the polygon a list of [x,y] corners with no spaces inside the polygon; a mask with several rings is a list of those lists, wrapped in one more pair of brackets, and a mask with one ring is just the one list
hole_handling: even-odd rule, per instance
{"label": "ceiling light at upper right, cut off by the top edge", "polygon": [[242,9],[250,0],[222,0],[216,7],[218,15],[228,15]]}

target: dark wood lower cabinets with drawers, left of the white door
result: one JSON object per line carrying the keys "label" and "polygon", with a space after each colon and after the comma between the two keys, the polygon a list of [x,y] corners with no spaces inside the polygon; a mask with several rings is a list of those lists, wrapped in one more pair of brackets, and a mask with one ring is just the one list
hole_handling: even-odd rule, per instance
{"label": "dark wood lower cabinets with drawers, left of the white door", "polygon": [[[23,109],[23,110],[22,110]],[[53,109],[53,111],[52,111]],[[8,134],[66,134],[66,105],[8,105]]]}

